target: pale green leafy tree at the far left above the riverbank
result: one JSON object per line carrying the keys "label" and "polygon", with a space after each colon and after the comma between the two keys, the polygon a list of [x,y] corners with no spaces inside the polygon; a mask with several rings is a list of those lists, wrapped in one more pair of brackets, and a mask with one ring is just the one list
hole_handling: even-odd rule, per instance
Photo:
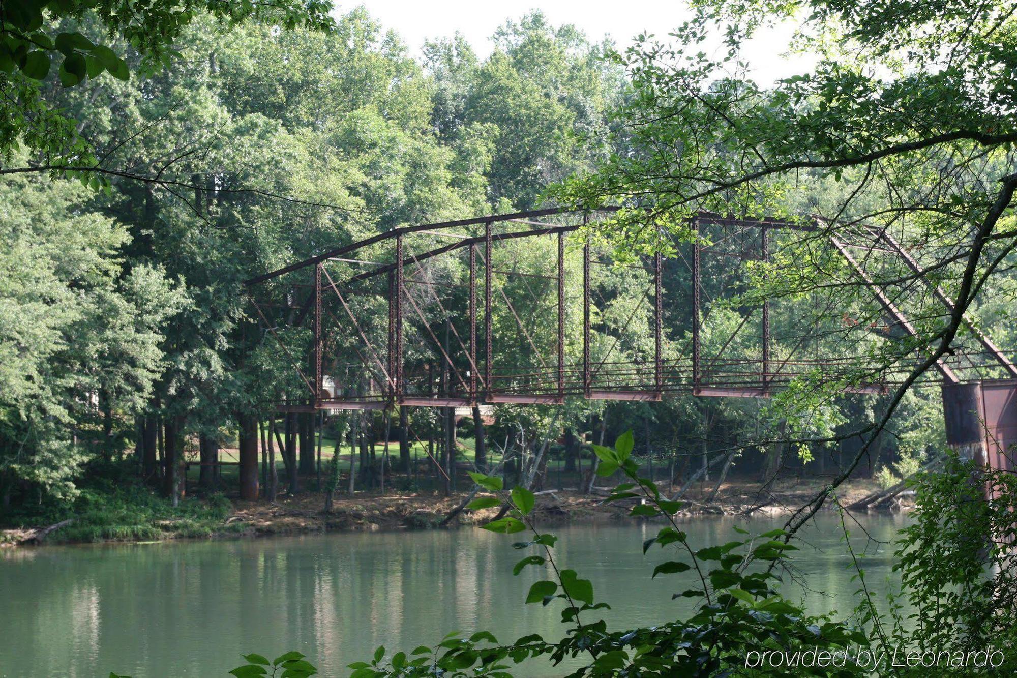
{"label": "pale green leafy tree at the far left above the riverbank", "polygon": [[164,369],[168,318],[188,304],[156,266],[129,270],[123,225],[67,181],[0,181],[0,497],[72,496],[82,464],[122,449]]}

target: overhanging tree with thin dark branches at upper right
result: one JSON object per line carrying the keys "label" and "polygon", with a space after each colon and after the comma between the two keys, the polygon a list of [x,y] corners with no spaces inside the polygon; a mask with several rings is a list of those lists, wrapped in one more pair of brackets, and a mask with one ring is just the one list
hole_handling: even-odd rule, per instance
{"label": "overhanging tree with thin dark branches at upper right", "polygon": [[[797,46],[816,50],[819,63],[812,72],[761,86],[746,72],[740,48],[791,18],[801,20]],[[614,55],[632,80],[615,114],[624,125],[615,140],[629,151],[551,191],[576,204],[638,206],[600,233],[637,251],[656,249],[672,235],[691,239],[686,218],[698,210],[819,213],[818,234],[799,236],[797,249],[791,245],[799,257],[762,269],[768,275],[756,287],[770,295],[860,298],[866,284],[847,275],[846,265],[827,266],[829,253],[803,255],[804,244],[858,224],[892,232],[915,252],[920,273],[888,267],[873,274],[875,282],[912,309],[942,308],[932,289],[915,283],[938,284],[955,306],[921,313],[916,336],[888,336],[866,355],[866,370],[855,379],[897,369],[903,379],[833,487],[857,465],[908,389],[963,340],[962,315],[977,307],[1013,261],[1015,20],[1011,6],[966,0],[701,3],[672,34],[672,45],[651,37]],[[698,47],[712,31],[722,32],[728,48],[716,60]],[[810,200],[824,186],[837,187],[827,201]],[[644,208],[657,228],[646,228]],[[864,327],[881,313],[870,310]],[[833,316],[826,321],[833,324]],[[857,336],[857,327],[839,329],[844,338],[852,332]],[[923,346],[929,351],[909,362]],[[842,384],[783,403],[807,412]]]}

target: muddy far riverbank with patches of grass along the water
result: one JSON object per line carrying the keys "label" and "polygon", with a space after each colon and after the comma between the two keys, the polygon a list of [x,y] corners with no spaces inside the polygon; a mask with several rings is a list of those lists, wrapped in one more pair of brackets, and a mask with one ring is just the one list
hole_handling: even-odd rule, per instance
{"label": "muddy far riverbank with patches of grass along the water", "polygon": [[[712,484],[693,487],[682,497],[682,517],[696,515],[779,516],[790,513],[812,499],[825,485],[824,478],[778,479],[767,486],[735,481],[714,495]],[[876,489],[869,479],[842,485],[839,496],[850,504]],[[666,484],[661,493],[671,495]],[[674,490],[676,492],[677,489]],[[537,495],[535,516],[542,522],[592,520],[635,521],[629,515],[632,503],[605,504],[607,491],[596,488],[586,495],[576,489],[547,490]],[[461,511],[446,516],[467,498],[466,491],[444,497],[439,493],[392,492],[385,495],[357,492],[338,495],[333,510],[324,511],[322,493],[306,492],[280,496],[273,503],[229,500],[223,495],[188,498],[177,507],[151,491],[130,490],[114,496],[88,496],[76,502],[77,510],[57,516],[52,522],[0,530],[0,545],[139,542],[169,539],[222,539],[328,531],[373,531],[428,529],[441,526],[483,524],[496,508]],[[828,506],[827,508],[830,508]],[[906,502],[898,508],[907,508]],[[49,531],[45,531],[49,529]]]}

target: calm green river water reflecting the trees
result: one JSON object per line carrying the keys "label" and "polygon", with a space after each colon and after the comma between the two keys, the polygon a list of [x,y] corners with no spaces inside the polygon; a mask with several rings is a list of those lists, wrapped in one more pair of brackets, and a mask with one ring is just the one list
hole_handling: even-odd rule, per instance
{"label": "calm green river water reflecting the trees", "polygon": [[[851,525],[851,543],[866,578],[889,584],[888,545],[906,518],[871,514]],[[694,546],[722,544],[738,525],[759,533],[773,518],[698,517],[683,528]],[[668,560],[642,543],[658,524],[594,522],[549,526],[562,567],[593,581],[612,607],[613,628],[674,618],[691,583],[677,575],[651,579]],[[798,544],[801,581],[788,594],[813,612],[854,605],[856,581],[836,514],[818,516]],[[539,632],[561,634],[560,605],[523,605],[529,567],[513,576],[525,551],[514,536],[467,527],[236,541],[64,546],[0,550],[0,676],[94,678],[114,671],[133,678],[225,676],[240,655],[307,655],[323,676],[346,665],[432,644],[446,632],[487,629],[499,640]],[[681,575],[684,577],[689,573]],[[802,581],[804,582],[802,584]],[[880,597],[882,600],[882,596]],[[539,665],[528,676],[562,673]],[[522,673],[518,675],[523,675]]]}

